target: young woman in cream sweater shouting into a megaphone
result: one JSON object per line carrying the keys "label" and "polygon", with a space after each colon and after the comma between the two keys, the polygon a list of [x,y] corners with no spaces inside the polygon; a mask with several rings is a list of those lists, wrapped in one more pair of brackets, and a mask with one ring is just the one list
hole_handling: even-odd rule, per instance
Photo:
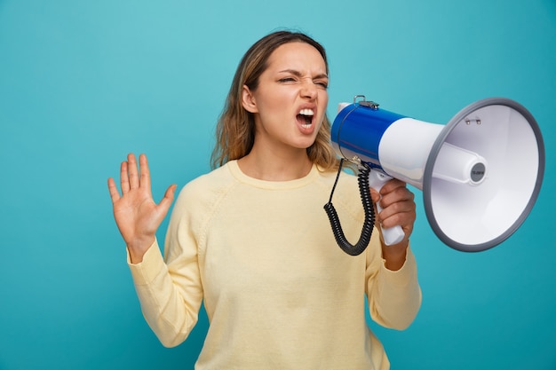
{"label": "young woman in cream sweater shouting into a megaphone", "polygon": [[[204,301],[210,320],[197,369],[387,369],[365,322],[403,329],[421,302],[409,248],[413,193],[381,190],[385,227],[406,237],[386,247],[379,228],[359,256],[334,239],[323,205],[338,170],[326,117],[329,69],[307,35],[280,31],[251,46],[234,76],[209,174],[180,192],[161,253],[155,232],[175,185],[156,204],[147,157],[108,180],[115,221],[149,326],[165,346],[183,342]],[[373,193],[373,200],[379,195]],[[335,207],[348,240],[363,211],[356,178],[343,173]]]}

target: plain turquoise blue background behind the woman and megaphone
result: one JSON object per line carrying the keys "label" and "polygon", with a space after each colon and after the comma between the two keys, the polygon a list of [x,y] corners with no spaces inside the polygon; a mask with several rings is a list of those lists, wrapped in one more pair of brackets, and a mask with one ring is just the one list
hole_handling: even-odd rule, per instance
{"label": "plain turquoise blue background behind the woman and megaphone", "polygon": [[147,153],[159,200],[208,171],[234,69],[276,28],[327,48],[331,117],[355,94],[428,122],[494,96],[534,114],[547,171],[526,222],[465,254],[417,191],[423,306],[406,331],[373,328],[396,370],[556,368],[554,0],[0,0],[0,369],[193,367],[206,317],[178,348],[157,342],[107,177]]}

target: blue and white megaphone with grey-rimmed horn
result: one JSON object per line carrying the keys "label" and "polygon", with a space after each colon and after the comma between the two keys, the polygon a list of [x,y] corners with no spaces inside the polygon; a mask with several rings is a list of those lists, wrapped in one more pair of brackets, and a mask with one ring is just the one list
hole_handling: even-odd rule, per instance
{"label": "blue and white megaphone with grey-rimmed horn", "polygon": [[[370,185],[377,190],[392,177],[421,190],[433,232],[465,252],[510,237],[533,208],[544,176],[536,120],[508,98],[476,101],[442,125],[386,111],[358,95],[338,107],[331,143],[340,157],[372,169]],[[400,237],[399,226],[383,230],[385,244]]]}

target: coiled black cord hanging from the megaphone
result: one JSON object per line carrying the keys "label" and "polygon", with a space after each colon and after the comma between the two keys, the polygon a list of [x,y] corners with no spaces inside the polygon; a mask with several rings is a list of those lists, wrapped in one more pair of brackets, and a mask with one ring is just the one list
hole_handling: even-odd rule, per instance
{"label": "coiled black cord hanging from the megaphone", "polygon": [[336,181],[332,187],[332,192],[330,193],[330,200],[324,205],[324,210],[330,219],[330,226],[332,226],[332,232],[334,233],[334,238],[338,243],[338,246],[342,248],[350,256],[359,256],[367,248],[370,241],[370,236],[373,231],[373,226],[375,224],[375,209],[373,208],[372,200],[370,199],[369,191],[369,173],[370,167],[367,163],[361,161],[361,167],[359,170],[359,175],[357,177],[357,182],[359,183],[359,192],[361,194],[361,201],[363,203],[363,210],[365,212],[365,220],[363,222],[361,237],[355,245],[352,245],[346,240],[346,235],[342,230],[342,225],[338,218],[338,213],[332,205],[332,195],[338,184],[338,178],[340,177],[340,172],[342,171],[342,165],[344,159],[340,160],[338,175],[336,176]]}

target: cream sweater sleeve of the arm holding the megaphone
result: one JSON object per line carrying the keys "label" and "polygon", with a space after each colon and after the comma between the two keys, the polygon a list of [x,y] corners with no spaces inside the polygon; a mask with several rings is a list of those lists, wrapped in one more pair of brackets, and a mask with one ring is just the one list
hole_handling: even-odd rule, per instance
{"label": "cream sweater sleeve of the arm holding the megaphone", "polygon": [[404,330],[413,322],[421,306],[421,288],[417,281],[417,263],[411,248],[405,264],[398,271],[385,267],[381,252],[369,259],[367,295],[370,316],[378,324]]}

